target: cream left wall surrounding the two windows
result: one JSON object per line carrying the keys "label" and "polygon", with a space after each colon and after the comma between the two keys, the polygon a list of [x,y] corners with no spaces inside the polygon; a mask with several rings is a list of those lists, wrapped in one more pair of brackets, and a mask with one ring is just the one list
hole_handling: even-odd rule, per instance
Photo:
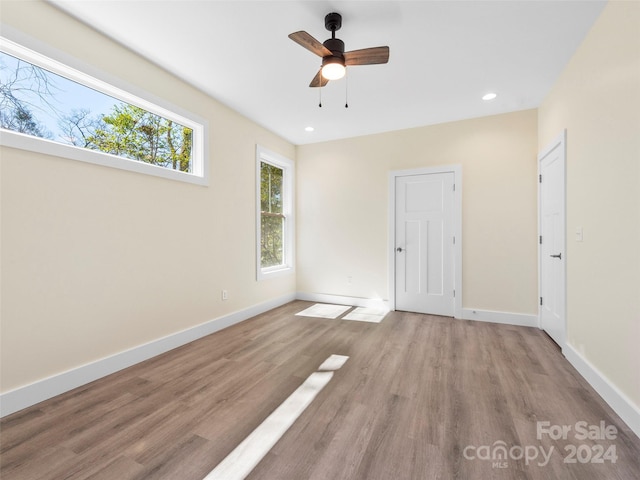
{"label": "cream left wall surrounding the two windows", "polygon": [[211,183],[3,147],[1,391],[295,292],[255,279],[255,145],[291,144],[43,2],[2,21],[207,119]]}

